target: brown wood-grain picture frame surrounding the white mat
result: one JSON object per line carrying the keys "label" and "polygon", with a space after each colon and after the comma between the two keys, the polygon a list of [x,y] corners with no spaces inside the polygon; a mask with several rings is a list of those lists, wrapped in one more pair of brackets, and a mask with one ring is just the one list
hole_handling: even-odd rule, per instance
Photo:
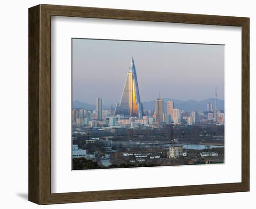
{"label": "brown wood-grain picture frame surrounding the white mat", "polygon": [[[29,193],[37,204],[249,191],[249,18],[38,5],[29,8]],[[242,182],[51,193],[51,16],[242,27]]]}

